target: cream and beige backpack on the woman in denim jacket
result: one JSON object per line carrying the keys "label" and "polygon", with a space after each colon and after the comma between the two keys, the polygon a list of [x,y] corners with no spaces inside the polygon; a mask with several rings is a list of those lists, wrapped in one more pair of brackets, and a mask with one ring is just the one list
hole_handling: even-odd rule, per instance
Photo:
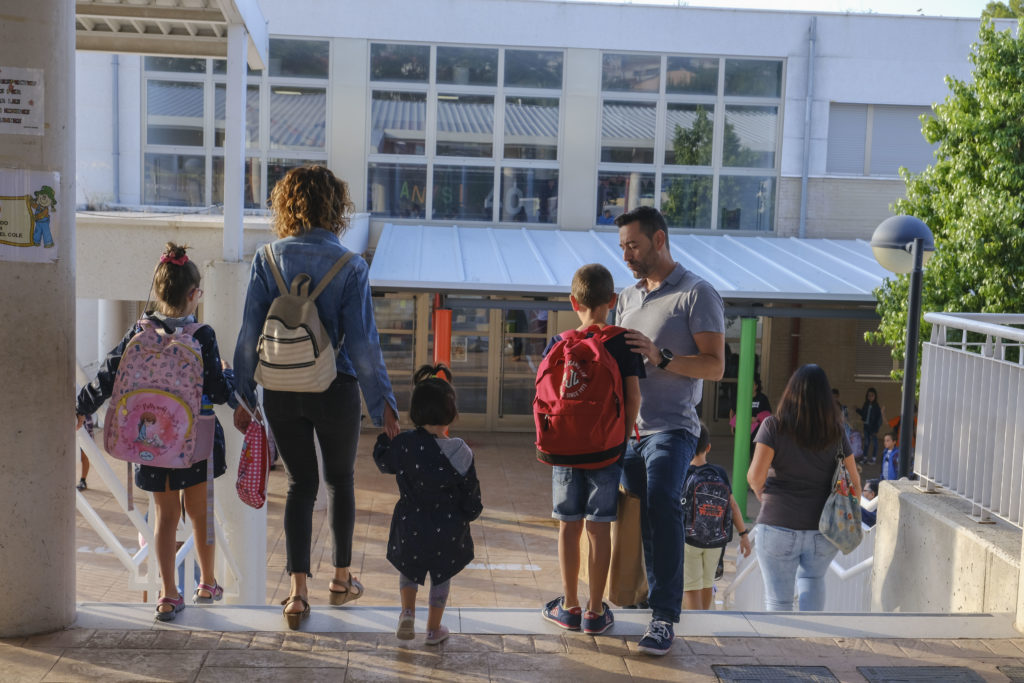
{"label": "cream and beige backpack on the woman in denim jacket", "polygon": [[[270,302],[256,344],[259,360],[256,381],[263,388],[274,391],[326,391],[338,376],[335,366],[338,352],[321,322],[316,297],[345,267],[352,252],[345,252],[312,292],[309,291],[312,279],[305,272],[297,274],[289,289],[273,260],[270,245],[264,245],[263,252],[278,284],[279,296]],[[342,340],[338,340],[339,345]]]}

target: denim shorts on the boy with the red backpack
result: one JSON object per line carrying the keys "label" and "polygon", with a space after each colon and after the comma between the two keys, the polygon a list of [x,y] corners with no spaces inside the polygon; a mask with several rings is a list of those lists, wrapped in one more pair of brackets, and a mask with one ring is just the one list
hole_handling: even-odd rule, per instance
{"label": "denim shorts on the boy with the red backpack", "polygon": [[551,516],[559,521],[613,522],[618,511],[618,479],[623,461],[599,470],[551,468]]}

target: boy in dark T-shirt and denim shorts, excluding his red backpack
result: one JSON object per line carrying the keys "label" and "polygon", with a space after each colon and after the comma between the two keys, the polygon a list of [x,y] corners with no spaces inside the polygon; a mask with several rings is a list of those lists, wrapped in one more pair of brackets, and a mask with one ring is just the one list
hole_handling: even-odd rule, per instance
{"label": "boy in dark T-shirt and denim shorts, excluding his red backpack", "polygon": [[[606,327],[608,311],[615,305],[615,285],[611,273],[603,265],[592,263],[575,271],[572,276],[572,293],[569,296],[572,309],[580,317],[580,332],[589,332],[593,336],[598,329]],[[547,621],[569,631],[583,630],[588,634],[599,634],[607,631],[614,623],[607,603],[602,601],[605,584],[608,577],[608,566],[611,562],[611,522],[615,520],[618,511],[618,480],[622,477],[622,454],[625,453],[626,439],[634,429],[637,413],[640,410],[640,377],[644,376],[643,356],[630,351],[626,336],[620,334],[603,341],[604,348],[615,360],[622,377],[623,407],[625,411],[625,432],[617,434],[615,443],[621,438],[622,446],[612,456],[612,461],[604,466],[590,469],[581,463],[571,464],[571,458],[548,456],[538,451],[538,456],[552,465],[551,481],[553,492],[553,511],[551,516],[558,521],[558,564],[562,574],[563,594],[548,602],[541,612]],[[555,345],[562,340],[556,335],[544,355],[552,352]],[[558,352],[558,351],[554,351]],[[539,372],[544,371],[544,366]],[[566,374],[569,369],[566,368]],[[565,379],[568,385],[568,378]],[[586,379],[579,385],[586,385]],[[598,400],[588,397],[589,400]],[[602,401],[617,400],[617,396],[601,396]],[[594,424],[592,429],[608,425]],[[554,429],[552,426],[551,429]],[[602,454],[601,458],[605,458]],[[558,463],[558,464],[556,464]],[[564,463],[564,466],[562,466]],[[587,558],[590,577],[590,599],[584,611],[580,605],[580,537],[586,519],[587,533],[590,540],[590,557]]]}

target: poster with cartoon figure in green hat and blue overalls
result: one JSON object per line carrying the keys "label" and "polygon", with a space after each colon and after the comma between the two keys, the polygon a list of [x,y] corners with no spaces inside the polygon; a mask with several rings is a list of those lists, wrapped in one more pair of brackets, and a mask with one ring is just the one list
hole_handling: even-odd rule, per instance
{"label": "poster with cartoon figure in green hat and blue overalls", "polygon": [[52,263],[57,260],[60,174],[0,169],[0,261]]}

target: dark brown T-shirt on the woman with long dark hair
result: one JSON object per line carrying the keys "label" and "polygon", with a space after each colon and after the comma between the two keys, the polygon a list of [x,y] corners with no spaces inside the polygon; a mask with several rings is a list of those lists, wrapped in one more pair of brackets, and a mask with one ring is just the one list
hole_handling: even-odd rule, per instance
{"label": "dark brown T-shirt on the woman with long dark hair", "polygon": [[[798,530],[817,529],[821,509],[831,493],[837,446],[822,451],[801,446],[791,434],[779,431],[774,415],[761,423],[754,442],[764,443],[775,452],[761,494],[758,523]],[[843,453],[853,453],[846,434],[843,434]]]}

